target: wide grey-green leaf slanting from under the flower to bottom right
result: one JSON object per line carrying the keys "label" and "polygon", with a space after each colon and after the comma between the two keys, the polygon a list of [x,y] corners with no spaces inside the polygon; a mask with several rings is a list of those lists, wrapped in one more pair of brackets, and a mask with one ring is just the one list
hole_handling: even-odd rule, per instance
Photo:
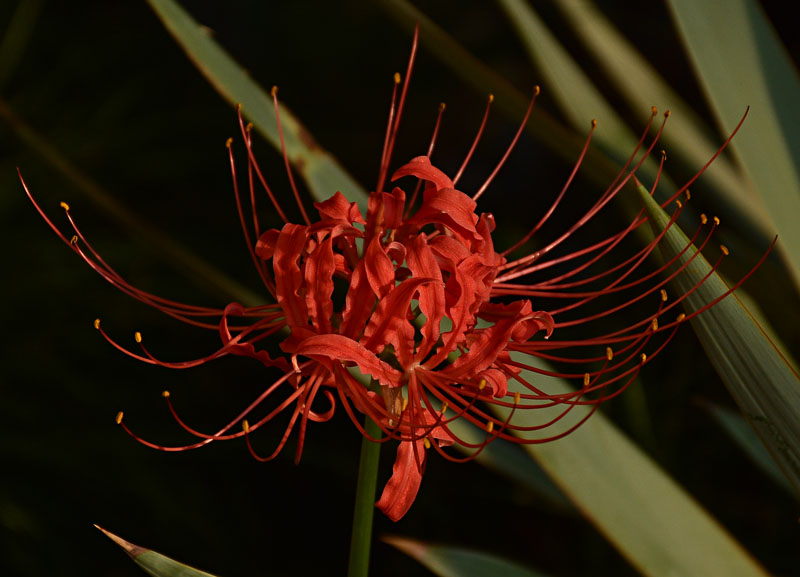
{"label": "wide grey-green leaf slanting from under the flower to bottom right", "polygon": [[[511,356],[547,368],[534,357]],[[566,381],[543,381],[531,371],[522,371],[521,376],[550,394],[574,390]],[[515,390],[522,393],[521,389],[515,381],[509,382],[511,394]],[[514,423],[541,424],[564,408],[517,411]],[[585,405],[573,406],[567,417],[548,428],[548,435],[566,431],[589,410]],[[643,575],[767,575],[713,517],[604,415],[595,413],[569,435],[525,445],[525,450]]]}

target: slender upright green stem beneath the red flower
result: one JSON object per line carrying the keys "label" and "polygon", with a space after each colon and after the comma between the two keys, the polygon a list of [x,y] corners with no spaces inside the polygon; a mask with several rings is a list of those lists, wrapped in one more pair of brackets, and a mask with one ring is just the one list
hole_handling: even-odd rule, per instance
{"label": "slender upright green stem beneath the red flower", "polygon": [[[369,417],[364,418],[367,433],[379,439],[381,429]],[[361,460],[358,464],[356,506],[353,511],[353,536],[350,540],[350,565],[347,577],[369,575],[369,552],[372,545],[372,517],[375,512],[375,487],[378,483],[378,461],[381,444],[364,437],[361,440]]]}

